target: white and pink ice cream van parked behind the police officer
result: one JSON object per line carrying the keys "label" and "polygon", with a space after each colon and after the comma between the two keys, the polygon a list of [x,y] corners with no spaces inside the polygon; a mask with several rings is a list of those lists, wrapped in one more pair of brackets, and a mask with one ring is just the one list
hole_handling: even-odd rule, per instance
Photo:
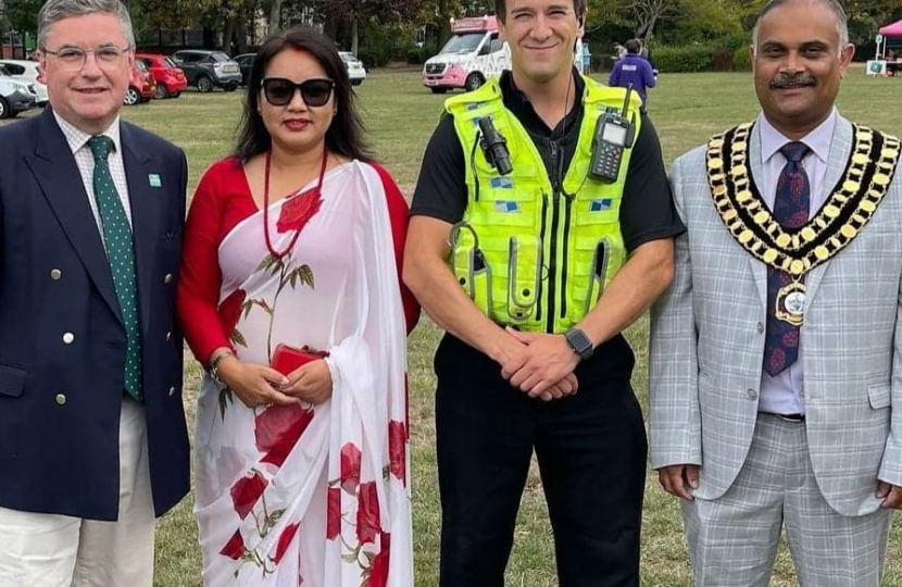
{"label": "white and pink ice cream van parked behind the police officer", "polygon": [[[451,22],[451,38],[423,65],[423,85],[433,93],[449,89],[475,90],[492,75],[511,68],[511,49],[498,38],[496,16]],[[582,72],[582,40],[576,41],[574,65]]]}

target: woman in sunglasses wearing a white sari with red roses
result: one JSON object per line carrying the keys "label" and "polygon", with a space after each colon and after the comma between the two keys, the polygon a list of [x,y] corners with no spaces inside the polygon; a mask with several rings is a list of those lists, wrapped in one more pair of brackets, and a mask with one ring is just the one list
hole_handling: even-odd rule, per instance
{"label": "woman in sunglasses wearing a white sari with red roses", "polygon": [[[413,586],[408,209],[363,147],[352,99],[330,40],[306,28],[267,39],[236,152],[191,202],[178,311],[206,369],[195,432],[205,585]],[[304,352],[313,360],[285,366]]]}

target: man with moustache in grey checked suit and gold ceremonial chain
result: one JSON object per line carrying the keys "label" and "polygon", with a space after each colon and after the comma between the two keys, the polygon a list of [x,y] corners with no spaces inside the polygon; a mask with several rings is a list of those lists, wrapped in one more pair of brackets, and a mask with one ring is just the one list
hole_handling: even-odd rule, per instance
{"label": "man with moustache in grey checked suit and gold ceremonial chain", "polygon": [[836,0],[771,0],[753,41],[761,115],[671,174],[687,233],[652,312],[652,465],[697,586],[767,585],[781,528],[801,585],[876,586],[902,504],[900,143],[834,105]]}

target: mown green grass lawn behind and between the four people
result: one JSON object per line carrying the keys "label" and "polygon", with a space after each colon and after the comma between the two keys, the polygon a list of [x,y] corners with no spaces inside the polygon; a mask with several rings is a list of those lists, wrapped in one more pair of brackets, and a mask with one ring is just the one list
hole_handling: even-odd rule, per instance
{"label": "mown green grass lawn behind and between the four people", "polygon": [[[601,78],[601,77],[599,77]],[[233,145],[241,92],[184,93],[177,100],[152,101],[125,110],[124,117],[179,145],[188,154],[190,188],[210,163]],[[379,159],[410,196],[416,183],[426,142],[438,121],[442,97],[419,85],[413,70],[376,71],[358,88],[359,105]],[[872,79],[855,68],[843,83],[839,107],[850,118],[902,136],[899,114],[902,78]],[[757,112],[751,74],[662,75],[651,93],[651,115],[669,163],[711,134]],[[29,113],[26,115],[34,115]],[[902,238],[902,235],[900,235]],[[628,337],[637,355],[635,387],[646,403],[648,321],[640,320]],[[413,420],[413,504],[416,585],[437,585],[438,538],[441,512],[434,450],[431,354],[440,333],[425,319],[410,340],[411,417]],[[199,367],[186,366],[185,409],[193,416]],[[604,488],[600,487],[599,491]],[[160,524],[156,539],[159,587],[200,585],[200,553],[189,496]],[[897,522],[901,521],[897,515]],[[885,585],[902,586],[902,529],[893,532]],[[672,498],[649,474],[642,529],[642,585],[688,586],[690,574],[679,513]],[[543,587],[556,585],[551,528],[547,521],[541,483],[534,470],[523,498],[506,584]],[[586,573],[600,570],[586,569]],[[781,549],[774,585],[794,585],[788,551]],[[850,586],[851,587],[851,586]]]}

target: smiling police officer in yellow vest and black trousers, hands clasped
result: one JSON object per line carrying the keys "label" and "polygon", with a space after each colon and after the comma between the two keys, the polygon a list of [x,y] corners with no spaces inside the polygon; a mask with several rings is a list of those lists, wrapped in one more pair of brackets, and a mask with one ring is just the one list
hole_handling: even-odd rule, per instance
{"label": "smiling police officer in yellow vest and black trousers, hands clasped", "polygon": [[[496,9],[512,71],[446,102],[405,252],[405,282],[448,332],[435,359],[440,584],[503,585],[535,449],[560,585],[639,585],[647,442],[621,332],[669,284],[682,225],[636,93],[622,112],[626,90],[573,67],[585,0]],[[630,124],[604,179],[589,167],[607,109]]]}

